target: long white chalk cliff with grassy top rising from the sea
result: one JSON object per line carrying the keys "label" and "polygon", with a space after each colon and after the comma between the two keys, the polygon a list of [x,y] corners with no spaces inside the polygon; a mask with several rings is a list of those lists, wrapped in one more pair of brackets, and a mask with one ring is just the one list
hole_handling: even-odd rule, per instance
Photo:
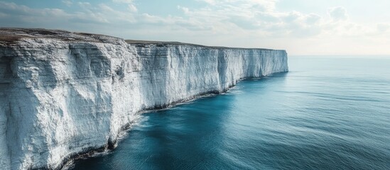
{"label": "long white chalk cliff with grassy top rising from the sea", "polygon": [[127,43],[59,30],[0,35],[0,169],[58,168],[114,147],[140,111],[288,71],[284,50]]}

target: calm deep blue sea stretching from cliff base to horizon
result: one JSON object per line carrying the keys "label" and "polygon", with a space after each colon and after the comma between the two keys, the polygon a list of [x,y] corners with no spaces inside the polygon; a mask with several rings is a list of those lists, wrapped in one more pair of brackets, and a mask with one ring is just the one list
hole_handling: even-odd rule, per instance
{"label": "calm deep blue sea stretching from cliff base to horizon", "polygon": [[390,58],[290,57],[290,72],[142,115],[74,169],[390,169]]}

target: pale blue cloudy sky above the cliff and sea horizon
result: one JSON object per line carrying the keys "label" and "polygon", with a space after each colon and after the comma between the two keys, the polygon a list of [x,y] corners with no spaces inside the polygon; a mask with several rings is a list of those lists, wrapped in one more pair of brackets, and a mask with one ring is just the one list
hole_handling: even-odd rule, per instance
{"label": "pale blue cloudy sky above the cliff and sea horizon", "polygon": [[0,27],[289,55],[390,55],[388,0],[0,0]]}

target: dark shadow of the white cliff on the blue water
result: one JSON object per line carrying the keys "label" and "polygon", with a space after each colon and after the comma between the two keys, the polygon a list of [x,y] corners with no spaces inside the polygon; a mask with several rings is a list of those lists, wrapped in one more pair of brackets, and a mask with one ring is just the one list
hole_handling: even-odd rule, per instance
{"label": "dark shadow of the white cliff on the blue water", "polygon": [[[245,84],[239,86],[241,89],[256,84],[261,91],[266,88],[261,84],[268,81],[283,84],[285,77],[286,74],[273,74],[261,79],[243,79],[237,85]],[[237,168],[222,165],[233,158],[215,146],[233,147],[229,136],[234,132],[226,126],[234,123],[232,116],[237,115],[237,100],[241,100],[237,94],[243,93],[240,89],[233,87],[227,93],[199,96],[169,109],[144,113],[141,123],[128,131],[116,149],[109,154],[79,159],[71,169]]]}

